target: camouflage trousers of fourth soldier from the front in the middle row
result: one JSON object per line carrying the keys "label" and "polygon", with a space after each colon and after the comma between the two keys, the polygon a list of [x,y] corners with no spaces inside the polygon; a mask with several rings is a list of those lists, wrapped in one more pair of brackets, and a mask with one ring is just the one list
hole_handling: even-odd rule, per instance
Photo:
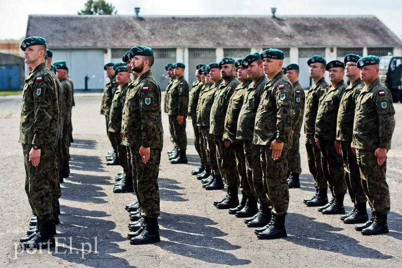
{"label": "camouflage trousers of fourth soldier from the front in the middle row", "polygon": [[240,179],[236,167],[235,150],[232,146],[225,146],[222,136],[214,135],[214,138],[217,147],[218,168],[221,171],[222,178],[228,187],[236,187],[237,189],[240,186]]}

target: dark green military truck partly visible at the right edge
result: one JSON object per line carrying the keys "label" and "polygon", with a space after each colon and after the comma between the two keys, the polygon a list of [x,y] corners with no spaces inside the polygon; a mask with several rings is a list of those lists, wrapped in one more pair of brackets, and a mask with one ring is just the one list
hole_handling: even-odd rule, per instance
{"label": "dark green military truck partly visible at the right edge", "polygon": [[379,78],[392,93],[393,102],[402,102],[402,57],[380,57]]}

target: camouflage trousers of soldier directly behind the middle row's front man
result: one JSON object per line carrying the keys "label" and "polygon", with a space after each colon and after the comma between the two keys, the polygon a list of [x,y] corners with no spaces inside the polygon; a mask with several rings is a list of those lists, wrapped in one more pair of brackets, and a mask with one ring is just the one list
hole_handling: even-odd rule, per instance
{"label": "camouflage trousers of soldier directly behind the middle row's front man", "polygon": [[265,194],[262,181],[261,146],[252,141],[244,141],[244,154],[246,156],[247,181],[254,191],[254,196],[261,207],[268,207],[268,198]]}

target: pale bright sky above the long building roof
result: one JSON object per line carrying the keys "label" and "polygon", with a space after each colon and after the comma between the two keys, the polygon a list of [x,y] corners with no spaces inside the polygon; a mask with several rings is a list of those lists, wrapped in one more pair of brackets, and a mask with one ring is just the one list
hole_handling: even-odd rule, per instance
{"label": "pale bright sky above the long building roof", "polygon": [[[25,36],[29,14],[77,14],[86,0],[19,0],[1,1],[0,39]],[[134,15],[134,7],[146,15],[375,15],[396,35],[402,36],[400,0],[107,0],[120,15]],[[353,26],[351,26],[353,29]]]}

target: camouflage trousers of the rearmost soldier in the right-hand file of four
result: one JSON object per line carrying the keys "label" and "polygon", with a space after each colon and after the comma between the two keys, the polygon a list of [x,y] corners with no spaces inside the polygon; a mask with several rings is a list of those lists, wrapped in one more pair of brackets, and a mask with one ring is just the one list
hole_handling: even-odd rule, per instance
{"label": "camouflage trousers of the rearmost soldier in the right-hand file of four", "polygon": [[306,135],[306,151],[309,170],[314,179],[314,187],[327,192],[328,185],[321,165],[321,152],[316,145],[314,135]]}

